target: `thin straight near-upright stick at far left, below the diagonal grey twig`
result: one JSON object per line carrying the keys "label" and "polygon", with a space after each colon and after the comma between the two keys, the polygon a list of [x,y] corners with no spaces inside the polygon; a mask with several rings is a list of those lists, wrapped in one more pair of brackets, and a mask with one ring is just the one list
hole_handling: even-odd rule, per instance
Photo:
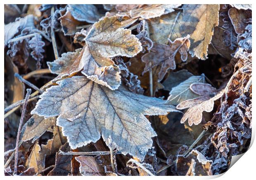
{"label": "thin straight near-upright stick at far left, below the diagonal grey twig", "polygon": [[26,98],[25,98],[25,102],[22,108],[22,112],[21,112],[21,119],[19,122],[19,129],[18,129],[18,133],[17,133],[17,139],[16,139],[16,147],[15,147],[15,157],[14,157],[14,172],[17,172],[17,167],[18,167],[18,150],[19,150],[19,136],[21,133],[21,126],[23,124],[23,119],[26,113],[26,107],[27,107],[27,103],[28,103],[28,98],[29,95],[31,94],[31,89],[27,89],[27,94],[26,94]]}

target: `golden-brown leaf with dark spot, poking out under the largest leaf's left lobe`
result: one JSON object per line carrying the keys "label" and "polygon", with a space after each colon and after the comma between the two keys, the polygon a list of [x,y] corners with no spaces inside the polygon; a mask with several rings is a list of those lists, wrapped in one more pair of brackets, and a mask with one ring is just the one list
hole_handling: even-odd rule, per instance
{"label": "golden-brown leaf with dark spot, poking out under the largest leaf's left lobe", "polygon": [[35,141],[55,123],[55,117],[45,118],[38,115],[33,115],[22,127],[21,140],[27,141],[33,139],[32,142]]}

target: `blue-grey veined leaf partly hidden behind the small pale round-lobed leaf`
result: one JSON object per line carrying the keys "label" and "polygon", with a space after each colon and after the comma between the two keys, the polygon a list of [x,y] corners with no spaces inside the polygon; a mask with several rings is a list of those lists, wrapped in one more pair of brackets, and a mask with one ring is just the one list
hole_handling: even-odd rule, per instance
{"label": "blue-grey veined leaf partly hidden behind the small pale round-lobed leaf", "polygon": [[187,99],[197,98],[199,95],[195,94],[190,90],[190,85],[195,82],[204,83],[204,75],[192,76],[187,80],[181,82],[178,86],[175,86],[170,91],[170,96],[168,97],[168,103],[172,105],[178,105],[179,103],[186,101]]}

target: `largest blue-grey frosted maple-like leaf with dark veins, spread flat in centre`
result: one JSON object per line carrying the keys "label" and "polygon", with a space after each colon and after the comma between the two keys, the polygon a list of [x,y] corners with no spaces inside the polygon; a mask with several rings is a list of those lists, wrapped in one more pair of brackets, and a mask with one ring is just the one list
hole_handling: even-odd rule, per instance
{"label": "largest blue-grey frosted maple-like leaf with dark veins, spread flat in centre", "polygon": [[[100,133],[123,154],[143,160],[156,133],[144,115],[177,111],[158,98],[133,94],[123,86],[116,91],[86,77],[75,76],[57,82],[41,95],[31,112],[57,118],[72,149],[96,142]],[[54,98],[52,98],[54,97]]]}

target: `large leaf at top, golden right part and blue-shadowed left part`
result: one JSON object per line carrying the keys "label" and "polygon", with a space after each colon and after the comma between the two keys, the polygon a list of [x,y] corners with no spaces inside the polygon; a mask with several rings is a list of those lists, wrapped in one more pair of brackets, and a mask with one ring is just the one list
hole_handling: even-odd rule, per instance
{"label": "large leaf at top, golden right part and blue-shadowed left part", "polygon": [[166,44],[168,38],[175,40],[190,35],[190,54],[199,59],[207,58],[213,29],[218,26],[219,5],[183,5],[183,11],[176,11],[159,18],[150,19],[150,38]]}

